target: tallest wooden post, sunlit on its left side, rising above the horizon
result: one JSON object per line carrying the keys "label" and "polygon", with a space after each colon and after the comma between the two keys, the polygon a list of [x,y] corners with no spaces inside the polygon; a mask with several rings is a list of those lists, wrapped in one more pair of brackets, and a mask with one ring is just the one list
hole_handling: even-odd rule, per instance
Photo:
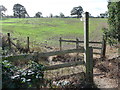
{"label": "tallest wooden post, sunlit on its left side, rising above the horizon", "polygon": [[89,80],[89,13],[84,17],[84,61],[86,62],[86,80]]}

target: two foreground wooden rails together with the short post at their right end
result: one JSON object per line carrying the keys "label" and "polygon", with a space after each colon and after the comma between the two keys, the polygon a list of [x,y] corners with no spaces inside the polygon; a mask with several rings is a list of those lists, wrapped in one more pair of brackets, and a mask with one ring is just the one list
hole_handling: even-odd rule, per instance
{"label": "two foreground wooden rails together with the short post at their right end", "polygon": [[[85,63],[85,61],[77,61],[77,62],[70,62],[70,63],[65,63],[65,64],[58,64],[58,65],[52,65],[52,66],[45,66],[44,70],[54,70],[54,69],[59,69],[59,68],[64,68],[64,67],[71,67],[71,66],[77,66],[77,65],[84,65],[89,71],[88,73],[88,78],[92,77],[89,75],[92,75],[92,62],[93,62],[93,57],[92,57],[92,47],[90,47],[89,49],[89,53],[91,53],[91,55],[89,56],[89,59],[87,60],[87,63]],[[25,54],[25,55],[17,55],[17,56],[2,56],[2,60],[9,60],[9,61],[17,61],[17,60],[35,60],[35,58],[40,58],[40,57],[47,57],[47,56],[54,56],[54,55],[62,55],[62,54],[67,54],[67,53],[75,53],[75,52],[80,52],[80,53],[84,53],[84,49],[71,49],[71,50],[62,50],[62,51],[55,51],[55,52],[46,52],[46,53],[33,53],[33,54]],[[89,65],[88,65],[89,64]]]}

